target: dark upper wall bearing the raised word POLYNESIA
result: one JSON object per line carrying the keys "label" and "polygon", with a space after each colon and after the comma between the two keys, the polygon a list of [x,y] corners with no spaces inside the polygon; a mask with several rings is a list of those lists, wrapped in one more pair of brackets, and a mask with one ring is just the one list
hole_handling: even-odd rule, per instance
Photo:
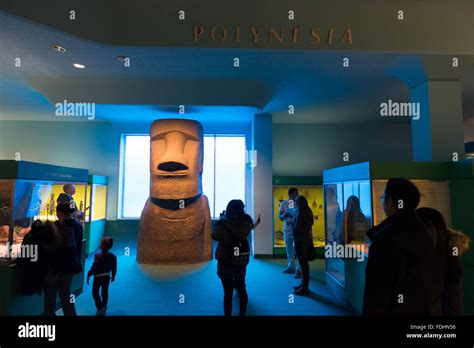
{"label": "dark upper wall bearing the raised word POLYNESIA", "polygon": [[[74,25],[64,17],[70,9],[70,2],[63,0],[0,2],[0,10],[111,45],[296,46],[306,49],[474,53],[471,41],[474,3],[470,0],[142,0],[139,6],[128,0],[82,0],[75,3],[74,9],[81,18],[90,21],[76,21]],[[185,10],[186,20],[178,20],[179,10]],[[295,20],[288,20],[289,10],[295,12]],[[404,11],[403,21],[397,20],[399,10]],[[205,29],[205,34],[199,39],[193,35],[195,25]],[[217,41],[224,42],[211,40],[214,26],[224,26],[228,31],[226,40],[218,36]],[[237,40],[236,27],[241,29],[240,40]],[[252,40],[250,27],[262,28],[257,43]],[[270,27],[284,29],[286,36],[282,42],[269,42]],[[301,39],[296,44],[291,36],[293,27],[301,28]],[[311,44],[312,27],[321,29],[317,45]],[[330,27],[335,28],[333,44],[327,40]],[[353,43],[340,44],[343,31],[348,27],[352,29]],[[218,30],[217,35],[222,29]],[[449,39],[440,40],[440,37]]]}

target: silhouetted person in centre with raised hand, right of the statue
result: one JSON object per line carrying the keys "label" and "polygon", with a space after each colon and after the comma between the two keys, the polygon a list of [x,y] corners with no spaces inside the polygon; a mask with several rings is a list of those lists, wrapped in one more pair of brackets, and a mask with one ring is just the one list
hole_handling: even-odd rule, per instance
{"label": "silhouetted person in centre with raised hand, right of the statue", "polygon": [[219,242],[216,249],[217,275],[224,289],[226,316],[232,315],[234,287],[240,299],[239,315],[245,316],[247,311],[248,295],[245,276],[250,257],[250,245],[247,238],[252,229],[260,223],[260,216],[254,224],[244,208],[245,205],[241,200],[231,200],[212,231],[212,239]]}

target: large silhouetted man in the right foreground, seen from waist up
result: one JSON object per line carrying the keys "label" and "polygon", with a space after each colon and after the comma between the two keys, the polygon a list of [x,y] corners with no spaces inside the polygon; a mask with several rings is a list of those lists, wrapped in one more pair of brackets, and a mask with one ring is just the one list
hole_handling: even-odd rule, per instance
{"label": "large silhouetted man in the right foreground, seen from waist up", "polygon": [[415,214],[420,193],[406,179],[390,179],[381,198],[387,218],[367,231],[372,244],[363,313],[435,314],[438,270],[431,239]]}

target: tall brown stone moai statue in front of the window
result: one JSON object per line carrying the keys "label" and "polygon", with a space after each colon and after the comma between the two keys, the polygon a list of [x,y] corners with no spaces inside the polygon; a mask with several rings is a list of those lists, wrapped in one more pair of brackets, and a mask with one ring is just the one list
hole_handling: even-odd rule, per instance
{"label": "tall brown stone moai statue in front of the window", "polygon": [[203,129],[182,119],[150,130],[150,196],[140,218],[137,261],[192,264],[212,257],[211,216],[202,194]]}

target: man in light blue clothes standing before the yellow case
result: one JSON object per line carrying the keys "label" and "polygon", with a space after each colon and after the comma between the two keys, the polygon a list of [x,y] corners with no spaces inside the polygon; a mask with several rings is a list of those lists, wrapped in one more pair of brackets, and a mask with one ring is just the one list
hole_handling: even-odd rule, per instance
{"label": "man in light blue clothes standing before the yellow case", "polygon": [[280,204],[278,217],[283,221],[283,236],[285,238],[286,256],[288,267],[283,271],[286,274],[295,274],[295,278],[301,278],[301,267],[297,263],[295,255],[295,241],[293,237],[293,218],[295,217],[295,200],[298,197],[298,189],[292,187],[288,190],[288,199]]}

